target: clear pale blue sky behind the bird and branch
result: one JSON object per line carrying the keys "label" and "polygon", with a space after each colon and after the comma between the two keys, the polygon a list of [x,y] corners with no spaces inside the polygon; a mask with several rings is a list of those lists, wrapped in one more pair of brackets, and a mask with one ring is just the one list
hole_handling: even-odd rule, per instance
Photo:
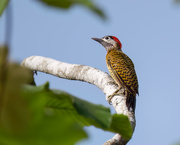
{"label": "clear pale blue sky behind the bird and branch", "polygon": [[[33,0],[13,1],[13,35],[10,57],[21,62],[31,55],[89,65],[108,72],[105,49],[91,37],[114,35],[134,62],[139,80],[137,125],[128,145],[172,145],[180,141],[180,6],[173,0],[94,1],[108,19],[101,20],[82,6],[69,10],[48,8]],[[0,19],[3,42],[5,15]],[[97,87],[43,73],[38,85],[114,109]],[[89,139],[77,145],[103,144],[114,135],[86,127]]]}

